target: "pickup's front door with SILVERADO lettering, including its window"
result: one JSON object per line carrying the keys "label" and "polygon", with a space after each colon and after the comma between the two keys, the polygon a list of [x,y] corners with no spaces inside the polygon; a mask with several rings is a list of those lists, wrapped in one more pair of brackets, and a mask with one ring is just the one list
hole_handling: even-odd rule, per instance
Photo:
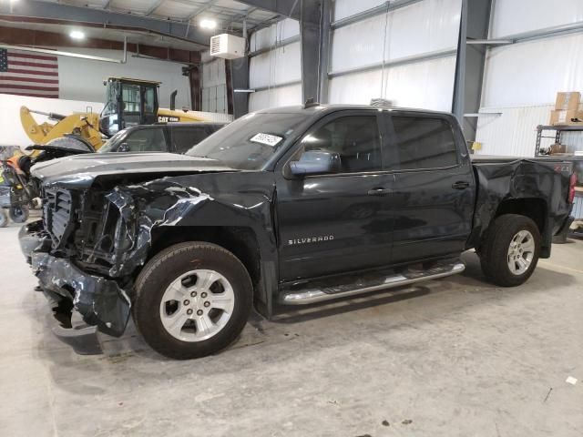
{"label": "pickup's front door with SILVERADO lettering, including its window", "polygon": [[[280,278],[308,279],[389,263],[393,174],[382,169],[377,111],[324,117],[276,170]],[[296,177],[310,150],[338,153],[336,173]]]}

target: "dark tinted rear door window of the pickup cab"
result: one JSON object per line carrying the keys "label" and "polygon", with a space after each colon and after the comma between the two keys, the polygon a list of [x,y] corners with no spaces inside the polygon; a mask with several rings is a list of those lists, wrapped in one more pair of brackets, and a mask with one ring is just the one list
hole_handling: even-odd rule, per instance
{"label": "dark tinted rear door window of the pickup cab", "polygon": [[454,133],[443,118],[393,117],[393,126],[398,157],[393,168],[414,170],[457,165]]}

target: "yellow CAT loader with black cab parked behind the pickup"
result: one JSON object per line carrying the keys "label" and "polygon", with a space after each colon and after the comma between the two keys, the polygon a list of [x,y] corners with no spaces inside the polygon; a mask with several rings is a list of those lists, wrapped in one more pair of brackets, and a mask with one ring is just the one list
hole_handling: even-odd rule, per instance
{"label": "yellow CAT loader with black cab parked behind the pickup", "polygon": [[[21,107],[20,121],[26,135],[37,146],[46,145],[56,138],[68,137],[71,140],[77,139],[86,146],[88,143],[97,150],[105,139],[126,127],[157,122],[206,121],[205,118],[190,113],[188,109],[176,110],[177,91],[170,96],[169,109],[159,107],[160,82],[109,77],[103,84],[107,87],[106,105],[100,116],[94,113],[63,116]],[[38,124],[34,114],[45,116],[48,121]]]}

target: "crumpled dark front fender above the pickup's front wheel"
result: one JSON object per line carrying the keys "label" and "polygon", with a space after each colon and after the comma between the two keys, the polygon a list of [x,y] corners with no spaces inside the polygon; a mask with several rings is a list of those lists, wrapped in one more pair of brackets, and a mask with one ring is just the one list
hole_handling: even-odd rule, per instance
{"label": "crumpled dark front fender above the pickup's front wheel", "polygon": [[[230,189],[215,186],[214,191],[219,193],[215,197],[206,191],[210,187],[203,189],[194,185],[204,186],[204,176],[159,178],[118,186],[107,193],[105,198],[118,208],[120,216],[109,276],[130,275],[146,262],[153,229],[198,225],[249,226],[256,230],[258,238],[265,234],[264,229],[271,229],[272,186],[252,193],[233,192],[236,183],[230,185]],[[238,178],[240,173],[229,176]],[[216,178],[212,180],[216,184]],[[265,247],[274,247],[271,243]]]}

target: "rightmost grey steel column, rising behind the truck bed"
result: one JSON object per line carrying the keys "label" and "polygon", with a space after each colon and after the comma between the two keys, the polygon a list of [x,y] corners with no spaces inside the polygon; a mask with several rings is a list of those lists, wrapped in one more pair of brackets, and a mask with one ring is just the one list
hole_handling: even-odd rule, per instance
{"label": "rightmost grey steel column, rising behind the truck bed", "polygon": [[488,37],[491,9],[492,0],[463,0],[462,3],[453,112],[468,140],[476,139],[477,117],[464,117],[464,114],[477,113],[480,109],[487,50],[486,45],[471,43]]}

